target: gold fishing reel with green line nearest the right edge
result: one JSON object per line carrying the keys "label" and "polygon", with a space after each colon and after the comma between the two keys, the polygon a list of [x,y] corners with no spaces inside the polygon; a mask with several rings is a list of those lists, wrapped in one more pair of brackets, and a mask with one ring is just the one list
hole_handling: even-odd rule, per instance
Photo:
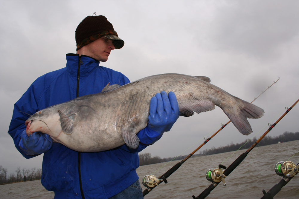
{"label": "gold fishing reel with green line nearest the right edge", "polygon": [[278,162],[275,164],[274,170],[277,175],[279,176],[286,176],[288,178],[294,177],[296,174],[298,174],[299,164],[296,166],[291,161],[286,162]]}

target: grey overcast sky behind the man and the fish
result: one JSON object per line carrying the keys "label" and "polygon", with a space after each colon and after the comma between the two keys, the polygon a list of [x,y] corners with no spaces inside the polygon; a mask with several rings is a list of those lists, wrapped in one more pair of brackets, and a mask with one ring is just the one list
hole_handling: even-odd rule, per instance
{"label": "grey overcast sky behind the man and the fish", "polygon": [[[200,150],[260,137],[299,98],[298,8],[295,0],[0,0],[0,165],[9,172],[17,166],[41,168],[42,155],[26,160],[7,133],[13,104],[36,78],[65,67],[65,54],[76,53],[77,25],[94,12],[106,16],[125,41],[100,65],[131,81],[161,73],[208,76],[251,102],[280,77],[254,101],[265,114],[249,119],[252,134],[242,135],[229,124]],[[268,135],[299,131],[298,119],[299,104]],[[219,107],[180,117],[143,152],[161,158],[189,154],[228,121]]]}

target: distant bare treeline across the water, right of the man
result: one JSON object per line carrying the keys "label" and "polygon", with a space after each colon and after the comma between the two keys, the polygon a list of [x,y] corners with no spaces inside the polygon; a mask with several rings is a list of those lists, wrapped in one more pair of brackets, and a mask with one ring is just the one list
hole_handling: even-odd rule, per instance
{"label": "distant bare treeline across the water, right of the man", "polygon": [[[265,136],[257,146],[266,146],[270,144],[277,144],[278,142],[289,142],[294,140],[299,140],[299,132],[293,133],[293,132],[286,131],[282,135],[278,135],[276,137]],[[255,141],[257,141],[256,137],[252,138],[251,140],[246,139],[242,143],[234,144],[233,142],[231,142],[231,144],[228,144],[226,146],[220,146],[218,148],[212,147],[211,149],[205,149],[203,151],[200,151],[199,154],[192,155],[191,158],[202,156],[202,155],[213,155],[217,153],[236,151],[238,149],[248,149],[252,144],[254,144]],[[187,155],[180,155],[174,158],[160,158],[159,156],[151,157],[150,153],[143,153],[143,154],[139,154],[139,166],[147,165],[147,164],[155,164],[160,162],[168,162],[171,160],[182,160],[186,156]]]}

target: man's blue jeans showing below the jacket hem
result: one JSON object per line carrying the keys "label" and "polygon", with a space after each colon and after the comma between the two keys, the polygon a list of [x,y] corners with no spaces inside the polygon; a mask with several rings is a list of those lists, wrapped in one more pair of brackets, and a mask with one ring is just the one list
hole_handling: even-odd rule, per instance
{"label": "man's blue jeans showing below the jacket hem", "polygon": [[139,180],[134,182],[131,186],[116,194],[109,199],[143,199],[142,188],[140,187]]}

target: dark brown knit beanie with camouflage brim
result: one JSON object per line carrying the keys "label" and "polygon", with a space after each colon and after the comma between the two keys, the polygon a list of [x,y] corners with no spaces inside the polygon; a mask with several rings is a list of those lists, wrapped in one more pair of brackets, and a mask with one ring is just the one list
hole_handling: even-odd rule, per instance
{"label": "dark brown knit beanie with camouflage brim", "polygon": [[112,39],[116,49],[122,48],[125,44],[105,16],[87,16],[76,29],[77,50],[103,36]]}

